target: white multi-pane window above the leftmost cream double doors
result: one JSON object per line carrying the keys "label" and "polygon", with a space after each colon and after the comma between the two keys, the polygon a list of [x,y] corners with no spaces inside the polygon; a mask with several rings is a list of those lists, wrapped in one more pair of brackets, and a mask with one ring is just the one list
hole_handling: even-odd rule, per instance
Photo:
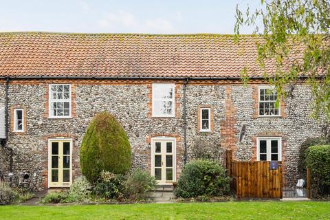
{"label": "white multi-pane window above the leftmost cream double doors", "polygon": [[50,85],[50,118],[71,117],[71,85]]}

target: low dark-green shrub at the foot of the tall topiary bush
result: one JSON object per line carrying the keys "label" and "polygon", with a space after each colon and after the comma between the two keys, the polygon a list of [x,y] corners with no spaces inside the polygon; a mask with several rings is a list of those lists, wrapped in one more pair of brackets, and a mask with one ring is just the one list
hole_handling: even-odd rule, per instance
{"label": "low dark-green shrub at the foot of the tall topiary bush", "polygon": [[121,198],[124,192],[124,177],[108,171],[102,171],[93,192],[96,196],[104,199]]}

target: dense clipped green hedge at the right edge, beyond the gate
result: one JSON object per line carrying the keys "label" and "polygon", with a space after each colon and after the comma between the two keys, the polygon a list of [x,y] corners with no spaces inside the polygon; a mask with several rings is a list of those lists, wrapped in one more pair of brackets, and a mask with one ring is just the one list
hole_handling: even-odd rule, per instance
{"label": "dense clipped green hedge at the right edge, beyond the gate", "polygon": [[330,145],[310,146],[306,166],[311,170],[313,197],[330,196]]}

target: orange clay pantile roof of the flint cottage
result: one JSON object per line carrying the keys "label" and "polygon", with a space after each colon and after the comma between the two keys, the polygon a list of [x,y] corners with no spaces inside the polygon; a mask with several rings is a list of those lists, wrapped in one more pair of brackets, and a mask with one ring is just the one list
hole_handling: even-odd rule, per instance
{"label": "orange clay pantile roof of the flint cottage", "polygon": [[239,77],[245,66],[263,76],[254,36],[0,33],[0,77]]}

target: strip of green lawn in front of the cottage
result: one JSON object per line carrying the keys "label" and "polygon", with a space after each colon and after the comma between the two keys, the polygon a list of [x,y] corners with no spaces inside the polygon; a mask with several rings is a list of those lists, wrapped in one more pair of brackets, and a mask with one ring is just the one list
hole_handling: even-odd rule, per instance
{"label": "strip of green lawn in front of the cottage", "polygon": [[330,219],[330,202],[0,206],[0,219]]}

